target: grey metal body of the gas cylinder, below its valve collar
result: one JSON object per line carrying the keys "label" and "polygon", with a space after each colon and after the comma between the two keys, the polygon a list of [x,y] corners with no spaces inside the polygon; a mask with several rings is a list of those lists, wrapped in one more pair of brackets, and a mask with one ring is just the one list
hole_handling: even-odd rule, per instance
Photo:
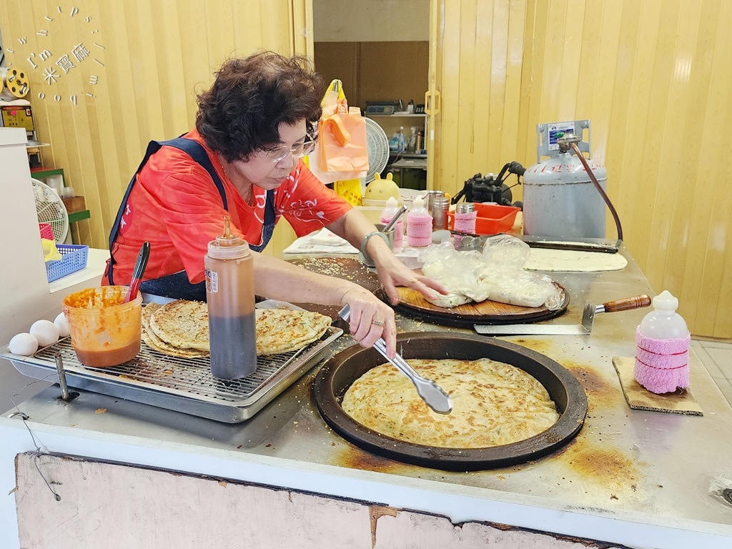
{"label": "grey metal body of the gas cylinder, below its valve collar", "polygon": [[[608,171],[587,159],[603,190]],[[605,238],[605,201],[571,152],[559,152],[523,174],[523,233],[558,238]]]}

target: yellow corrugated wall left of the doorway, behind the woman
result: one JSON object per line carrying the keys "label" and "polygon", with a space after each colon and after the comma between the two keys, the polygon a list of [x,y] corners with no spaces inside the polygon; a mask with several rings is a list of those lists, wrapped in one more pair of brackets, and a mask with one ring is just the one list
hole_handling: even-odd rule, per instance
{"label": "yellow corrugated wall left of the doorway, behind the woman", "polygon": [[81,242],[107,246],[148,141],[193,127],[195,93],[222,61],[258,48],[312,56],[312,20],[310,0],[1,1],[7,64],[29,75],[26,99],[51,143],[44,165],[64,168],[91,211],[76,223]]}

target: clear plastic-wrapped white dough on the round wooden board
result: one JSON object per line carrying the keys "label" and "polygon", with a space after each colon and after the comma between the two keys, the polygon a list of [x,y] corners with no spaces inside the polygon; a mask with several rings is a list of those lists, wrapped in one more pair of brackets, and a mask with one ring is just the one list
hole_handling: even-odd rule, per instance
{"label": "clear plastic-wrapped white dough on the round wooden board", "polygon": [[498,235],[486,240],[482,252],[456,251],[451,242],[430,246],[419,255],[422,272],[445,285],[447,296],[430,302],[456,307],[469,300],[541,307],[561,307],[564,296],[550,277],[523,269],[529,246],[515,236]]}

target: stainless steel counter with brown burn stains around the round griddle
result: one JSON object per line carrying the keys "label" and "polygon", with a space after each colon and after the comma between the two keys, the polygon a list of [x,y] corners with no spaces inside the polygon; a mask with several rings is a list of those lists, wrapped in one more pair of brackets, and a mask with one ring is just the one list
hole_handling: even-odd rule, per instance
{"label": "stainless steel counter with brown burn stains around the round griddle", "polygon": [[[566,314],[549,322],[579,323],[587,299],[599,304],[635,294],[653,295],[627,251],[621,253],[629,260],[621,272],[552,273],[567,288],[571,301]],[[259,469],[247,474],[246,466],[295,470],[302,479],[325,475],[337,482],[313,485],[313,491],[409,505],[448,515],[454,522],[503,522],[631,547],[732,546],[732,504],[722,497],[723,488],[732,488],[732,408],[709,373],[690,351],[691,392],[703,417],[631,410],[621,392],[612,358],[634,356],[635,326],[648,312],[598,315],[587,336],[504,338],[539,351],[572,372],[586,389],[589,411],[583,429],[564,449],[536,462],[491,471],[408,466],[343,441],[326,426],[313,403],[310,384],[318,367],[239,425],[89,392],[64,403],[56,398],[58,386],[32,397],[20,410],[29,416],[31,429],[48,433],[48,440],[59,444],[53,447],[41,436],[51,452],[75,453],[70,451],[73,442],[61,442],[67,438],[83,439],[81,455],[100,458],[108,452],[100,450],[97,455],[89,441],[122,442],[142,449],[173,445],[176,455],[198,455],[201,461],[187,466],[179,460],[168,468],[195,471],[206,468],[201,465],[205,463],[215,468],[214,463],[223,459],[239,464],[233,469],[239,471],[237,478],[296,489],[309,485],[287,474],[260,474]],[[401,331],[446,329],[408,318],[399,318],[398,326]],[[341,337],[332,352],[352,343],[350,337]],[[0,418],[0,433],[10,431],[17,438],[28,438],[30,444],[18,416]],[[145,456],[140,452],[135,463],[155,464]],[[400,488],[422,497],[399,494]]]}

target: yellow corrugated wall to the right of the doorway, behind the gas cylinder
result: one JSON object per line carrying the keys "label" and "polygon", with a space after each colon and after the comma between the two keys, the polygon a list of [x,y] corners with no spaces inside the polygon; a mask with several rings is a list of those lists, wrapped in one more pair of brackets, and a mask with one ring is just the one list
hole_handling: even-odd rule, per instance
{"label": "yellow corrugated wall to the right of the doorway, behind the gas cylinder", "polygon": [[592,157],[654,291],[679,297],[692,334],[732,337],[732,2],[433,3],[430,187],[532,165],[537,123],[590,119]]}

